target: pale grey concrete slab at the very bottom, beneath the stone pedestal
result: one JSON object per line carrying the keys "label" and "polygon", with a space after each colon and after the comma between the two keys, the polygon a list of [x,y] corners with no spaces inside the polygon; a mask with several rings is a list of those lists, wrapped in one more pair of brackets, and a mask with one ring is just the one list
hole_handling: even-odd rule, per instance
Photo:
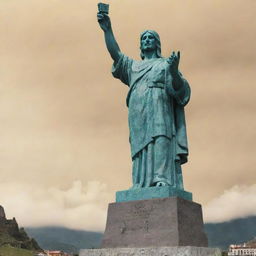
{"label": "pale grey concrete slab at the very bottom, beneath the stone pedestal", "polygon": [[152,247],[82,249],[79,256],[221,256],[220,249],[205,247]]}

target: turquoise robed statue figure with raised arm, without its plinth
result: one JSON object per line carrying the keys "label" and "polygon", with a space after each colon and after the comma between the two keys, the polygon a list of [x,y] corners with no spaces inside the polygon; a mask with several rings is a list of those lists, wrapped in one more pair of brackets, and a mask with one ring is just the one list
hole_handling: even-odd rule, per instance
{"label": "turquoise robed statue figure with raised arm, without its plinth", "polygon": [[[105,8],[100,8],[102,5]],[[188,155],[184,106],[190,87],[179,72],[180,52],[163,58],[159,35],[146,30],[140,35],[142,60],[125,56],[114,37],[106,6],[99,4],[97,18],[114,61],[112,74],[129,86],[131,189],[170,186],[184,190],[181,165]]]}

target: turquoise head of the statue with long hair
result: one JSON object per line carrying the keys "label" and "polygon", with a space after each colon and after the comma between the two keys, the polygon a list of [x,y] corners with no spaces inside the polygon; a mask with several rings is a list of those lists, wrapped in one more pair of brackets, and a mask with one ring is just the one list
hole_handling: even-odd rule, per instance
{"label": "turquoise head of the statue with long hair", "polygon": [[158,33],[154,30],[145,30],[140,35],[140,57],[144,59],[144,51],[153,49],[156,51],[157,57],[161,58],[161,42]]}

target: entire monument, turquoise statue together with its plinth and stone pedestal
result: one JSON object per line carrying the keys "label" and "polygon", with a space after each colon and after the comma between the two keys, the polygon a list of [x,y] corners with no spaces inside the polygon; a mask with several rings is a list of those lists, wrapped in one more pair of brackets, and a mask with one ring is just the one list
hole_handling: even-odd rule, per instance
{"label": "entire monument, turquoise statue together with its plinth and stone pedestal", "polygon": [[133,185],[117,191],[116,202],[109,204],[102,249],[96,254],[216,254],[216,249],[202,248],[208,244],[202,209],[183,187],[181,165],[188,156],[184,107],[190,87],[179,72],[180,52],[162,57],[159,35],[146,30],[140,35],[142,60],[133,60],[116,42],[108,5],[99,4],[97,17],[114,61],[112,74],[129,87]]}

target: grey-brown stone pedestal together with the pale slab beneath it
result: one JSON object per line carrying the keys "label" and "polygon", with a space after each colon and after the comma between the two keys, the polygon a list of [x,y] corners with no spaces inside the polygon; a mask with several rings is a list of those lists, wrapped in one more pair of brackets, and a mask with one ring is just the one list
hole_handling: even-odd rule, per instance
{"label": "grey-brown stone pedestal together with the pale slab beneath it", "polygon": [[201,205],[166,197],[109,204],[101,249],[79,256],[221,256],[207,246]]}

